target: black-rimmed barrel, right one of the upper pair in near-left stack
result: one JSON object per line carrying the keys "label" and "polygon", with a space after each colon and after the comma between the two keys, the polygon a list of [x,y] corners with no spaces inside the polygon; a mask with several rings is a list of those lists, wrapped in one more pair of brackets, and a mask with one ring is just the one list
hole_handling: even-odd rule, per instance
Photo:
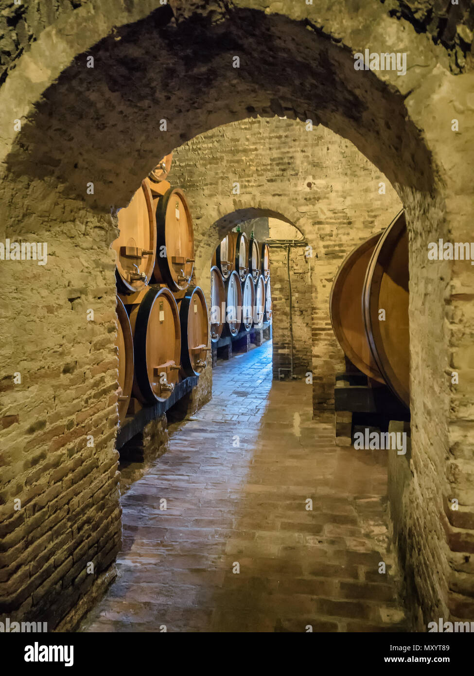
{"label": "black-rimmed barrel, right one of the upper pair in near-left stack", "polygon": [[170,188],[153,199],[153,204],[158,237],[154,281],[166,284],[171,291],[183,291],[189,286],[194,266],[193,220],[185,193]]}

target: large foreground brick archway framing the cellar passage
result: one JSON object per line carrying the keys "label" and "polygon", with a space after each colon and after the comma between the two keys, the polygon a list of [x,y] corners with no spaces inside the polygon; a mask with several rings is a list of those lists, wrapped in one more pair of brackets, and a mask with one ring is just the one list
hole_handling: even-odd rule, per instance
{"label": "large foreground brick archway framing the cellar passage", "polygon": [[[328,7],[293,3],[283,16],[266,14],[260,3],[250,1],[233,9],[181,1],[170,8],[158,7],[156,0],[140,4],[127,10],[120,3],[112,19],[110,3],[108,11],[101,3],[93,11],[87,3],[53,22],[16,60],[0,92],[0,104],[8,101],[0,105],[2,128],[9,130],[1,155],[3,232],[51,240],[51,266],[44,274],[28,270],[34,293],[26,303],[24,270],[5,274],[7,286],[16,289],[5,324],[24,337],[21,352],[9,335],[1,346],[3,415],[17,419],[3,430],[16,468],[7,475],[2,495],[7,547],[21,539],[23,522],[19,525],[11,514],[11,501],[19,494],[30,505],[24,525],[28,542],[37,546],[49,533],[35,530],[35,515],[47,509],[34,493],[42,490],[40,477],[51,481],[47,495],[55,500],[63,491],[57,485],[63,476],[67,485],[79,482],[83,472],[91,474],[91,481],[110,473],[110,487],[101,498],[109,519],[105,541],[85,540],[83,529],[79,535],[77,496],[64,514],[52,514],[53,521],[66,519],[71,534],[73,546],[62,544],[61,556],[54,559],[54,575],[66,580],[69,600],[80,598],[93,583],[81,577],[84,561],[78,551],[84,550],[85,560],[95,559],[98,573],[107,575],[120,539],[113,450],[114,260],[107,249],[116,231],[110,211],[127,203],[156,160],[188,139],[233,120],[287,115],[321,123],[352,141],[396,187],[406,208],[414,420],[408,563],[425,617],[446,617],[449,608],[467,617],[473,607],[466,577],[472,572],[466,552],[472,552],[473,461],[467,439],[473,427],[473,379],[465,335],[473,318],[465,301],[472,282],[457,264],[429,268],[425,246],[438,237],[469,237],[473,75],[450,74],[444,49],[410,24],[389,18],[383,5],[354,12],[342,0]],[[118,27],[113,29],[112,22]],[[209,41],[205,48],[204,39]],[[374,51],[407,51],[413,66],[406,79],[355,71],[353,53],[367,45]],[[87,68],[90,56],[94,68]],[[233,69],[234,56],[240,58],[239,69]],[[462,131],[452,132],[451,118],[459,118]],[[160,120],[167,123],[163,137]],[[91,183],[93,193],[88,193]],[[99,329],[83,319],[91,304]],[[456,389],[446,379],[449,366],[462,376]],[[11,385],[11,373],[19,368],[27,374],[23,389]],[[74,388],[82,392],[79,403],[70,396]],[[433,393],[428,400],[427,392]],[[97,441],[93,451],[85,444],[88,432]],[[24,452],[34,452],[37,469]],[[78,466],[74,460],[68,464],[72,456]],[[456,496],[467,514],[463,519],[448,510],[444,514],[446,500]],[[93,510],[86,518],[93,530],[102,523]],[[28,589],[39,589],[48,576],[57,542],[45,550],[42,563],[33,563],[33,548],[21,541],[15,562],[5,559],[5,607],[24,612]],[[426,583],[430,565],[432,587]],[[95,582],[100,586],[99,579]],[[69,601],[61,590],[46,591],[35,612],[45,603],[51,617],[60,619]]]}

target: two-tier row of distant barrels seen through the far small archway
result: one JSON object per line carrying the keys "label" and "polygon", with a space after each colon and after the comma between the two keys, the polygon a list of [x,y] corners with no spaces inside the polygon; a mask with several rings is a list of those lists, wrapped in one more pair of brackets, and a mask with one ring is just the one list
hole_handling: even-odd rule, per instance
{"label": "two-tier row of distant barrels seen through the far small archway", "polygon": [[211,340],[237,337],[272,320],[268,246],[236,230],[224,237],[212,257]]}

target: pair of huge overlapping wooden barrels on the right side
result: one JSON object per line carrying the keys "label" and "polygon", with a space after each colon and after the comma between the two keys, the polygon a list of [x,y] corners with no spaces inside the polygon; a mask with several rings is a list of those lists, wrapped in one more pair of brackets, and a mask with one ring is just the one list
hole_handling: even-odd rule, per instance
{"label": "pair of huge overlapping wooden barrels on the right side", "polygon": [[408,233],[400,212],[382,233],[352,251],[329,301],[334,333],[346,356],[410,406]]}

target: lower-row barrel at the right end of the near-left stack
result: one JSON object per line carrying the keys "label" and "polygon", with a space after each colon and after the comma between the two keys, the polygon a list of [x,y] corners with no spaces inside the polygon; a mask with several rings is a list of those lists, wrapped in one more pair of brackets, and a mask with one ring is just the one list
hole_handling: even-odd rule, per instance
{"label": "lower-row barrel at the right end of the near-left stack", "polygon": [[206,298],[200,287],[188,287],[178,301],[181,324],[181,368],[185,377],[206,368],[209,320]]}

